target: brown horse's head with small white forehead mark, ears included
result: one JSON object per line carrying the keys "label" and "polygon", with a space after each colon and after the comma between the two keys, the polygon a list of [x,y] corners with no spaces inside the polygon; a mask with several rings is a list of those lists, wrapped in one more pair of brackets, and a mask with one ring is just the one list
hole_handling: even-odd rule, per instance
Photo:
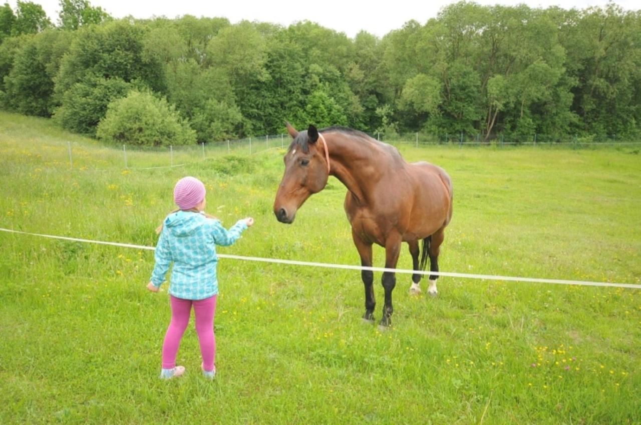
{"label": "brown horse's head with small white forehead mark, ears included", "polygon": [[274,214],[278,221],[289,224],[307,198],[327,184],[329,163],[325,143],[317,143],[322,136],[316,127],[298,132],[287,123],[287,132],[294,140],[283,157],[285,174],[274,200]]}

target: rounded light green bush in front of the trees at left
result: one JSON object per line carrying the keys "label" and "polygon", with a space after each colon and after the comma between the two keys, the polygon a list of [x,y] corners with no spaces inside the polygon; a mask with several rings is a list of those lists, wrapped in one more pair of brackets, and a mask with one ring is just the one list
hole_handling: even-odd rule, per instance
{"label": "rounded light green bush in front of the trees at left", "polygon": [[182,120],[174,106],[149,92],[133,90],[114,100],[98,124],[97,138],[111,143],[144,146],[196,143],[196,132]]}

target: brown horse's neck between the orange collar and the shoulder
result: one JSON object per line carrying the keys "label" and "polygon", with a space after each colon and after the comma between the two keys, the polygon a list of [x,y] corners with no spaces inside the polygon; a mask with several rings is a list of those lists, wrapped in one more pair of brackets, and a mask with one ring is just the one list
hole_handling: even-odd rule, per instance
{"label": "brown horse's neck between the orange collar and the shoulder", "polygon": [[329,150],[329,174],[345,185],[360,204],[369,204],[370,188],[381,178],[388,161],[381,148],[338,132],[325,135]]}

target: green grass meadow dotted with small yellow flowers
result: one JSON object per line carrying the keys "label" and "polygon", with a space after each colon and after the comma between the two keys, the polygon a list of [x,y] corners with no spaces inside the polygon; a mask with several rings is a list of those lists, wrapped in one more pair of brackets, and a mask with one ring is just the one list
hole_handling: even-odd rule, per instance
{"label": "green grass meadow dotted with small yellow flowers", "polygon": [[[453,179],[441,271],[641,284],[638,148],[399,149]],[[124,170],[117,148],[0,113],[0,227],[154,245],[174,183],[195,175],[224,225],[256,220],[219,253],[360,264],[338,180],[293,225],[276,221],[282,155]],[[217,377],[199,373],[190,325],[186,375],[160,381],[170,311],[166,285],[145,288],[153,252],[4,232],[0,244],[2,424],[641,423],[638,289],[445,277],[437,298],[414,298],[397,275],[394,326],[379,332],[360,319],[358,271],[221,260]]]}

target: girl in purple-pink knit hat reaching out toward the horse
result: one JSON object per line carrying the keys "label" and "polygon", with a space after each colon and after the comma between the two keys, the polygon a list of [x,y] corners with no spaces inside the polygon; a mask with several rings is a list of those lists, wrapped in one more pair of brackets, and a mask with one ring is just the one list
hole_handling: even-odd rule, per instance
{"label": "girl in purple-pink knit hat reaching out toward the horse", "polygon": [[174,188],[174,202],[178,210],[165,218],[157,232],[156,265],[147,289],[158,292],[165,280],[171,262],[169,294],[171,296],[171,323],[162,346],[160,378],[170,379],[185,373],[185,367],[176,366],[176,355],[183,337],[192,306],[196,316],[196,332],[203,356],[201,368],[207,378],[216,373],[216,339],[213,318],[216,312],[218,279],[216,276],[216,245],[229,246],[240,237],[253,218],[245,218],[229,230],[221,222],[204,214],[205,188],[195,177],[180,179]]}

